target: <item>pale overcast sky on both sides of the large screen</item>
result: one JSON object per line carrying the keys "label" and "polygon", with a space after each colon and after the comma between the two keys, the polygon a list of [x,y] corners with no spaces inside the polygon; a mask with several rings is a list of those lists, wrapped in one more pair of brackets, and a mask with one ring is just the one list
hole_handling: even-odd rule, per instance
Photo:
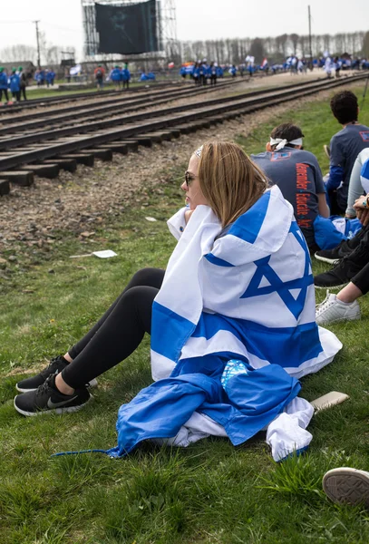
{"label": "pale overcast sky on both sides of the large screen", "polygon": [[[305,0],[176,0],[180,40],[307,34]],[[369,30],[369,0],[310,0],[313,34]],[[47,44],[83,51],[81,0],[1,2],[0,51],[35,45],[32,21],[40,20]]]}

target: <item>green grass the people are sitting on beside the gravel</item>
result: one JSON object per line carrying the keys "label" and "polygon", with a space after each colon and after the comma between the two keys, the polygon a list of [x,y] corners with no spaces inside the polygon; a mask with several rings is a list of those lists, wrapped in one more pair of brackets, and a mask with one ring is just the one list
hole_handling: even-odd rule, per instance
{"label": "green grass the people are sitting on beside the gravel", "polygon": [[[321,146],[339,129],[326,103],[286,110],[248,139],[235,134],[235,140],[248,152],[260,151],[270,129],[287,119],[301,124],[306,149],[325,170]],[[361,120],[369,124],[368,102]],[[180,173],[161,172],[160,186],[142,189],[119,216],[104,220],[95,242],[60,231],[47,253],[15,245],[2,254],[16,253],[18,261],[0,271],[1,543],[367,544],[369,514],[337,507],[321,490],[328,469],[369,470],[367,297],[360,301],[361,321],[330,327],[344,343],[334,363],[302,381],[308,400],[332,390],[350,400],[317,414],[309,452],[282,464],[272,461],[262,436],[238,448],[217,438],[185,450],[147,443],[118,461],[98,454],[50,457],[115,445],[119,406],[151,383],[148,338],[99,379],[94,401],[82,412],[37,418],[15,412],[15,383],[25,372],[73,345],[134,271],[165,267],[175,243],[165,219],[182,201]],[[147,215],[158,221],[145,221]],[[102,242],[118,257],[69,258]]]}

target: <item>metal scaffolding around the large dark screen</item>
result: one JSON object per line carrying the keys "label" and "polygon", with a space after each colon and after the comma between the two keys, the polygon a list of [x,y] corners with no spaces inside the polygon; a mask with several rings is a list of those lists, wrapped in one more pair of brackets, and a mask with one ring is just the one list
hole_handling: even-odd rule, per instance
{"label": "metal scaffolding around the large dark screen", "polygon": [[[138,0],[82,0],[83,8],[83,31],[84,31],[84,54],[87,60],[93,60],[99,54],[99,33],[96,31],[95,4],[102,5],[131,5],[140,4]],[[144,56],[171,55],[177,47],[177,21],[175,0],[157,0],[157,34],[159,51],[157,53],[143,53]],[[118,55],[116,55],[118,56]],[[122,55],[121,55],[122,56]]]}

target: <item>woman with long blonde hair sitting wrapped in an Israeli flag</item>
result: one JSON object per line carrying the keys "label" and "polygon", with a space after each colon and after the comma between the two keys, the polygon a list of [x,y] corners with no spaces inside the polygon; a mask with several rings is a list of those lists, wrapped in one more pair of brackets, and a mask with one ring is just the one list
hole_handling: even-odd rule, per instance
{"label": "woman with long blonde hair sitting wrapped in an Israeli flag", "polygon": [[[79,410],[91,398],[86,384],[131,355],[145,333],[153,379],[211,378],[208,403],[214,392],[225,399],[229,360],[251,370],[270,364],[286,378],[333,360],[342,345],[316,325],[308,248],[280,189],[267,189],[262,170],[223,141],[192,154],[181,189],[187,206],[168,222],[178,244],[167,270],[138,271],[82,340],[16,384],[19,413]],[[227,417],[213,409],[206,432],[224,436],[226,428],[233,442]]]}

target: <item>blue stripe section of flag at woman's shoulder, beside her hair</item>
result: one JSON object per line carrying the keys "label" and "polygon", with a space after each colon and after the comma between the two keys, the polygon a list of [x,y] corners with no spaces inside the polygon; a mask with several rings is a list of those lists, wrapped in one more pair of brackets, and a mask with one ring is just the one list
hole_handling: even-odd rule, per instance
{"label": "blue stripe section of flag at woman's shoulder, beside her hair", "polygon": [[246,213],[237,219],[235,224],[229,228],[228,234],[241,238],[249,244],[253,244],[266,217],[269,200],[270,191],[268,190],[257,200],[252,208],[248,209]]}

